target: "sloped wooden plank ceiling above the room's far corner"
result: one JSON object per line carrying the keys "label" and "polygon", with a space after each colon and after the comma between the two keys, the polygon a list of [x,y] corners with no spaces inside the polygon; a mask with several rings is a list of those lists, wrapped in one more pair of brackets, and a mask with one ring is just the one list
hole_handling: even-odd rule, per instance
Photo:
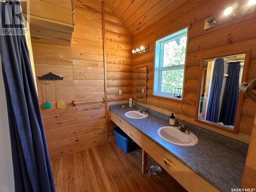
{"label": "sloped wooden plank ceiling above the room's far corner", "polygon": [[188,0],[104,0],[121,23],[136,35]]}

